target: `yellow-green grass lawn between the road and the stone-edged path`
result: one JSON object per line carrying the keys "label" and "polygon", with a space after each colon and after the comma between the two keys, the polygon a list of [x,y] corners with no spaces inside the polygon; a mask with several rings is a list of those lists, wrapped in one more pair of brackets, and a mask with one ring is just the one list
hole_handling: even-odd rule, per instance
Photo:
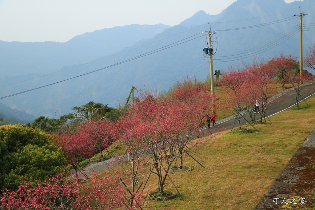
{"label": "yellow-green grass lawn between the road and the stone-edged path", "polygon": [[[221,132],[195,154],[205,169],[185,157],[193,171],[170,174],[185,201],[149,201],[152,209],[253,209],[274,179],[295,154],[315,126],[315,97],[308,99],[311,108],[288,110],[270,119],[272,125],[257,125],[260,133]],[[301,104],[303,105],[303,104]],[[145,180],[144,180],[145,181]],[[157,190],[152,175],[147,190]],[[166,190],[175,191],[169,180]]]}

